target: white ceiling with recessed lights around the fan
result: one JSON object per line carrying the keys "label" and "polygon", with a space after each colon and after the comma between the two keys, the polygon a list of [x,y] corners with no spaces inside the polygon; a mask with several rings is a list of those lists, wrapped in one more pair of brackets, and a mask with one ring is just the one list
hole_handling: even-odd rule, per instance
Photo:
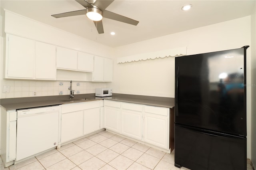
{"label": "white ceiling with recessed lights around the fan", "polygon": [[[137,20],[139,24],[133,26],[103,18],[104,34],[98,34],[94,23],[85,15],[51,16],[83,10],[75,0],[0,0],[1,11],[10,10],[110,47],[248,16],[255,3],[256,0],[115,0],[106,10]],[[182,11],[184,4],[192,4],[191,10]],[[111,36],[110,32],[116,35]]]}

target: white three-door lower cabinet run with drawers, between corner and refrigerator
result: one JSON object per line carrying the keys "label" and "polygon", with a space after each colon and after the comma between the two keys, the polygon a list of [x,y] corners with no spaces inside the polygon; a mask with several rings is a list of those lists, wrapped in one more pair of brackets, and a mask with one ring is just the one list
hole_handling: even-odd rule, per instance
{"label": "white three-door lower cabinet run with drawers, between corner and refrigerator", "polygon": [[104,100],[106,129],[170,149],[170,109]]}

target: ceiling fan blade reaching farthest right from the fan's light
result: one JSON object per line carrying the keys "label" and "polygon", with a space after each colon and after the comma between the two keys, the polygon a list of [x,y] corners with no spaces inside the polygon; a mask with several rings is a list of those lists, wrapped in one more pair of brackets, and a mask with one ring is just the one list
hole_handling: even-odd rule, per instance
{"label": "ceiling fan blade reaching farthest right from the fan's light", "polygon": [[116,21],[124,22],[124,23],[127,23],[127,24],[132,24],[134,26],[136,26],[139,23],[136,20],[133,20],[131,18],[127,18],[125,16],[122,16],[122,15],[119,15],[119,14],[116,14],[114,12],[110,12],[110,11],[107,11],[107,10],[103,11],[103,17],[111,19],[111,20],[116,20]]}

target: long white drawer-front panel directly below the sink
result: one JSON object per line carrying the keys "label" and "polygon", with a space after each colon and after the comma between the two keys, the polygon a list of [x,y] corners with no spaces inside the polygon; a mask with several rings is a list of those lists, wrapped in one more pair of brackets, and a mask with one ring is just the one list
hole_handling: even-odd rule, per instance
{"label": "long white drawer-front panel directly below the sink", "polygon": [[92,101],[92,102],[87,101],[82,103],[67,104],[67,105],[62,105],[61,113],[82,111],[82,110],[92,109],[96,107],[100,107],[100,101]]}

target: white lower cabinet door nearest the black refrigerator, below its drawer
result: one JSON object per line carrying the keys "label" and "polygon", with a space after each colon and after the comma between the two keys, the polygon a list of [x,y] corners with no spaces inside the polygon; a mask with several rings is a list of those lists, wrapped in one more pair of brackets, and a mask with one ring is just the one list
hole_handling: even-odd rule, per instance
{"label": "white lower cabinet door nearest the black refrigerator, below its drawer", "polygon": [[168,116],[145,113],[144,140],[155,146],[169,149]]}

